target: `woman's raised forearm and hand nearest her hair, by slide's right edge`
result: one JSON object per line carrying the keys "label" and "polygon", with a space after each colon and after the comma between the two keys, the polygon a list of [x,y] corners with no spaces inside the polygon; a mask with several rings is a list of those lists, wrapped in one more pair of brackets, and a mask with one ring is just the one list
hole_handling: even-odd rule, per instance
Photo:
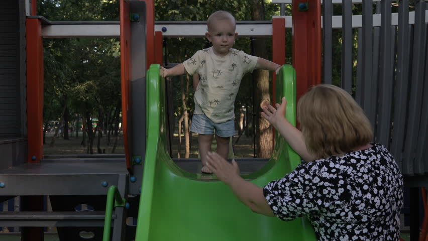
{"label": "woman's raised forearm and hand nearest her hair, by slide's right edge", "polygon": [[291,123],[285,118],[285,106],[287,105],[285,97],[282,97],[281,104],[276,103],[275,105],[276,109],[270,104],[262,106],[262,116],[267,119],[276,130],[278,130],[291,148],[297,152],[305,162],[315,160],[316,158],[306,149],[302,133],[291,125]]}

